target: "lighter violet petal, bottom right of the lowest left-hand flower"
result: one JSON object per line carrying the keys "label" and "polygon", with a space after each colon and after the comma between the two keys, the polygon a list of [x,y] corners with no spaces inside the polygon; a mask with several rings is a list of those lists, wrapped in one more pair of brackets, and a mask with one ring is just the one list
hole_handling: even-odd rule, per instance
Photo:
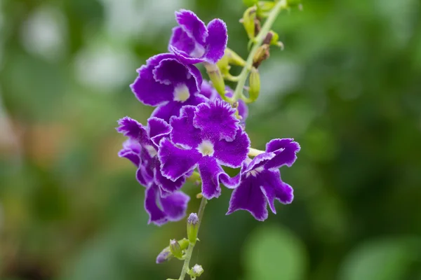
{"label": "lighter violet petal, bottom right of the lowest left-hand flower", "polygon": [[187,203],[190,197],[182,192],[176,192],[167,197],[161,197],[161,206],[168,221],[180,221],[186,216]]}

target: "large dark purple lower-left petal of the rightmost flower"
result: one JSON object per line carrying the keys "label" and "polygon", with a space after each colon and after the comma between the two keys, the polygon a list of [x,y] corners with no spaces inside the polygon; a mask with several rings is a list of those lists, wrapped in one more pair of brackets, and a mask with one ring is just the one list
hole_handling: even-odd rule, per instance
{"label": "large dark purple lower-left petal of the rightmost flower", "polygon": [[241,176],[241,183],[232,192],[227,215],[237,210],[249,211],[258,221],[267,219],[267,202],[255,176]]}

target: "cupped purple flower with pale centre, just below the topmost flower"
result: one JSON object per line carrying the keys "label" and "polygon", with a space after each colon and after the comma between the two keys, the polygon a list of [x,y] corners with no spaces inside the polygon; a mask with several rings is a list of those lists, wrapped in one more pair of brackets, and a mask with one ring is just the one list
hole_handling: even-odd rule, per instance
{"label": "cupped purple flower with pale centre, just below the topmost flower", "polygon": [[179,116],[182,106],[206,102],[199,94],[202,83],[199,69],[182,64],[171,53],[150,57],[138,73],[131,90],[143,104],[157,106],[152,117],[168,122],[171,116]]}

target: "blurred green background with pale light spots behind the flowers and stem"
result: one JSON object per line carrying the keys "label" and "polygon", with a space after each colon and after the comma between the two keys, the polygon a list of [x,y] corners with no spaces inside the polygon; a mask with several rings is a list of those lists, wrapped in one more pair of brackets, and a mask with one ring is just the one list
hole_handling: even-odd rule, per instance
{"label": "blurred green background with pale light spots behind the flowers and stem", "polygon": [[[114,127],[151,113],[128,85],[166,52],[179,8],[225,20],[246,56],[241,0],[0,0],[0,279],[178,277],[182,262],[155,258],[185,221],[147,225]],[[192,260],[201,279],[421,279],[420,9],[307,0],[280,15],[286,48],[260,66],[247,131],[255,148],[300,142],[281,169],[295,200],[260,223],[225,216],[224,189]]]}

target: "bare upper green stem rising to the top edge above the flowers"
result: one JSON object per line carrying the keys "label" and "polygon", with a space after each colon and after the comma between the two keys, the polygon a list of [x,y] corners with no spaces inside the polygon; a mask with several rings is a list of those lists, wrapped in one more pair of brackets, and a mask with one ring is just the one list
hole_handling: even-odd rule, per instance
{"label": "bare upper green stem rising to the top edge above the flowers", "polygon": [[256,52],[258,52],[258,48],[260,47],[260,45],[262,45],[263,40],[265,40],[276,18],[278,17],[279,13],[281,13],[281,10],[287,7],[288,7],[288,4],[286,3],[286,0],[281,0],[279,2],[276,2],[274,8],[272,8],[272,10],[269,13],[269,17],[267,17],[265,24],[263,25],[262,29],[260,29],[258,36],[255,37],[254,39],[255,44],[253,45],[253,48],[250,50],[250,53],[248,54],[248,57],[246,60],[246,66],[244,66],[243,70],[241,70],[241,73],[239,75],[239,82],[237,83],[235,91],[234,91],[234,96],[230,100],[232,103],[237,102],[239,99],[241,99],[241,96],[243,95],[244,85],[246,85],[248,73],[250,72],[251,67],[253,66],[253,57],[255,56]]}

